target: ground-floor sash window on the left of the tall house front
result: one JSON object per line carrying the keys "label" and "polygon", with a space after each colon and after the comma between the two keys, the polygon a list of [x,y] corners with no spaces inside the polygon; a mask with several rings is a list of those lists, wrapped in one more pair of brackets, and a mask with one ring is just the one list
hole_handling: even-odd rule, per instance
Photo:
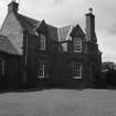
{"label": "ground-floor sash window on the left of the tall house front", "polygon": [[43,62],[38,64],[36,77],[44,78],[44,63]]}

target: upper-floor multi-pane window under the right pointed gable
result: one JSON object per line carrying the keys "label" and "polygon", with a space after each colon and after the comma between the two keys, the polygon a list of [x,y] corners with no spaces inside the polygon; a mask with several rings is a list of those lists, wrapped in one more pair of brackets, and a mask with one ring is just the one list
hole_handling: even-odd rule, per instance
{"label": "upper-floor multi-pane window under the right pointed gable", "polygon": [[81,38],[74,38],[74,52],[82,52],[82,39]]}

